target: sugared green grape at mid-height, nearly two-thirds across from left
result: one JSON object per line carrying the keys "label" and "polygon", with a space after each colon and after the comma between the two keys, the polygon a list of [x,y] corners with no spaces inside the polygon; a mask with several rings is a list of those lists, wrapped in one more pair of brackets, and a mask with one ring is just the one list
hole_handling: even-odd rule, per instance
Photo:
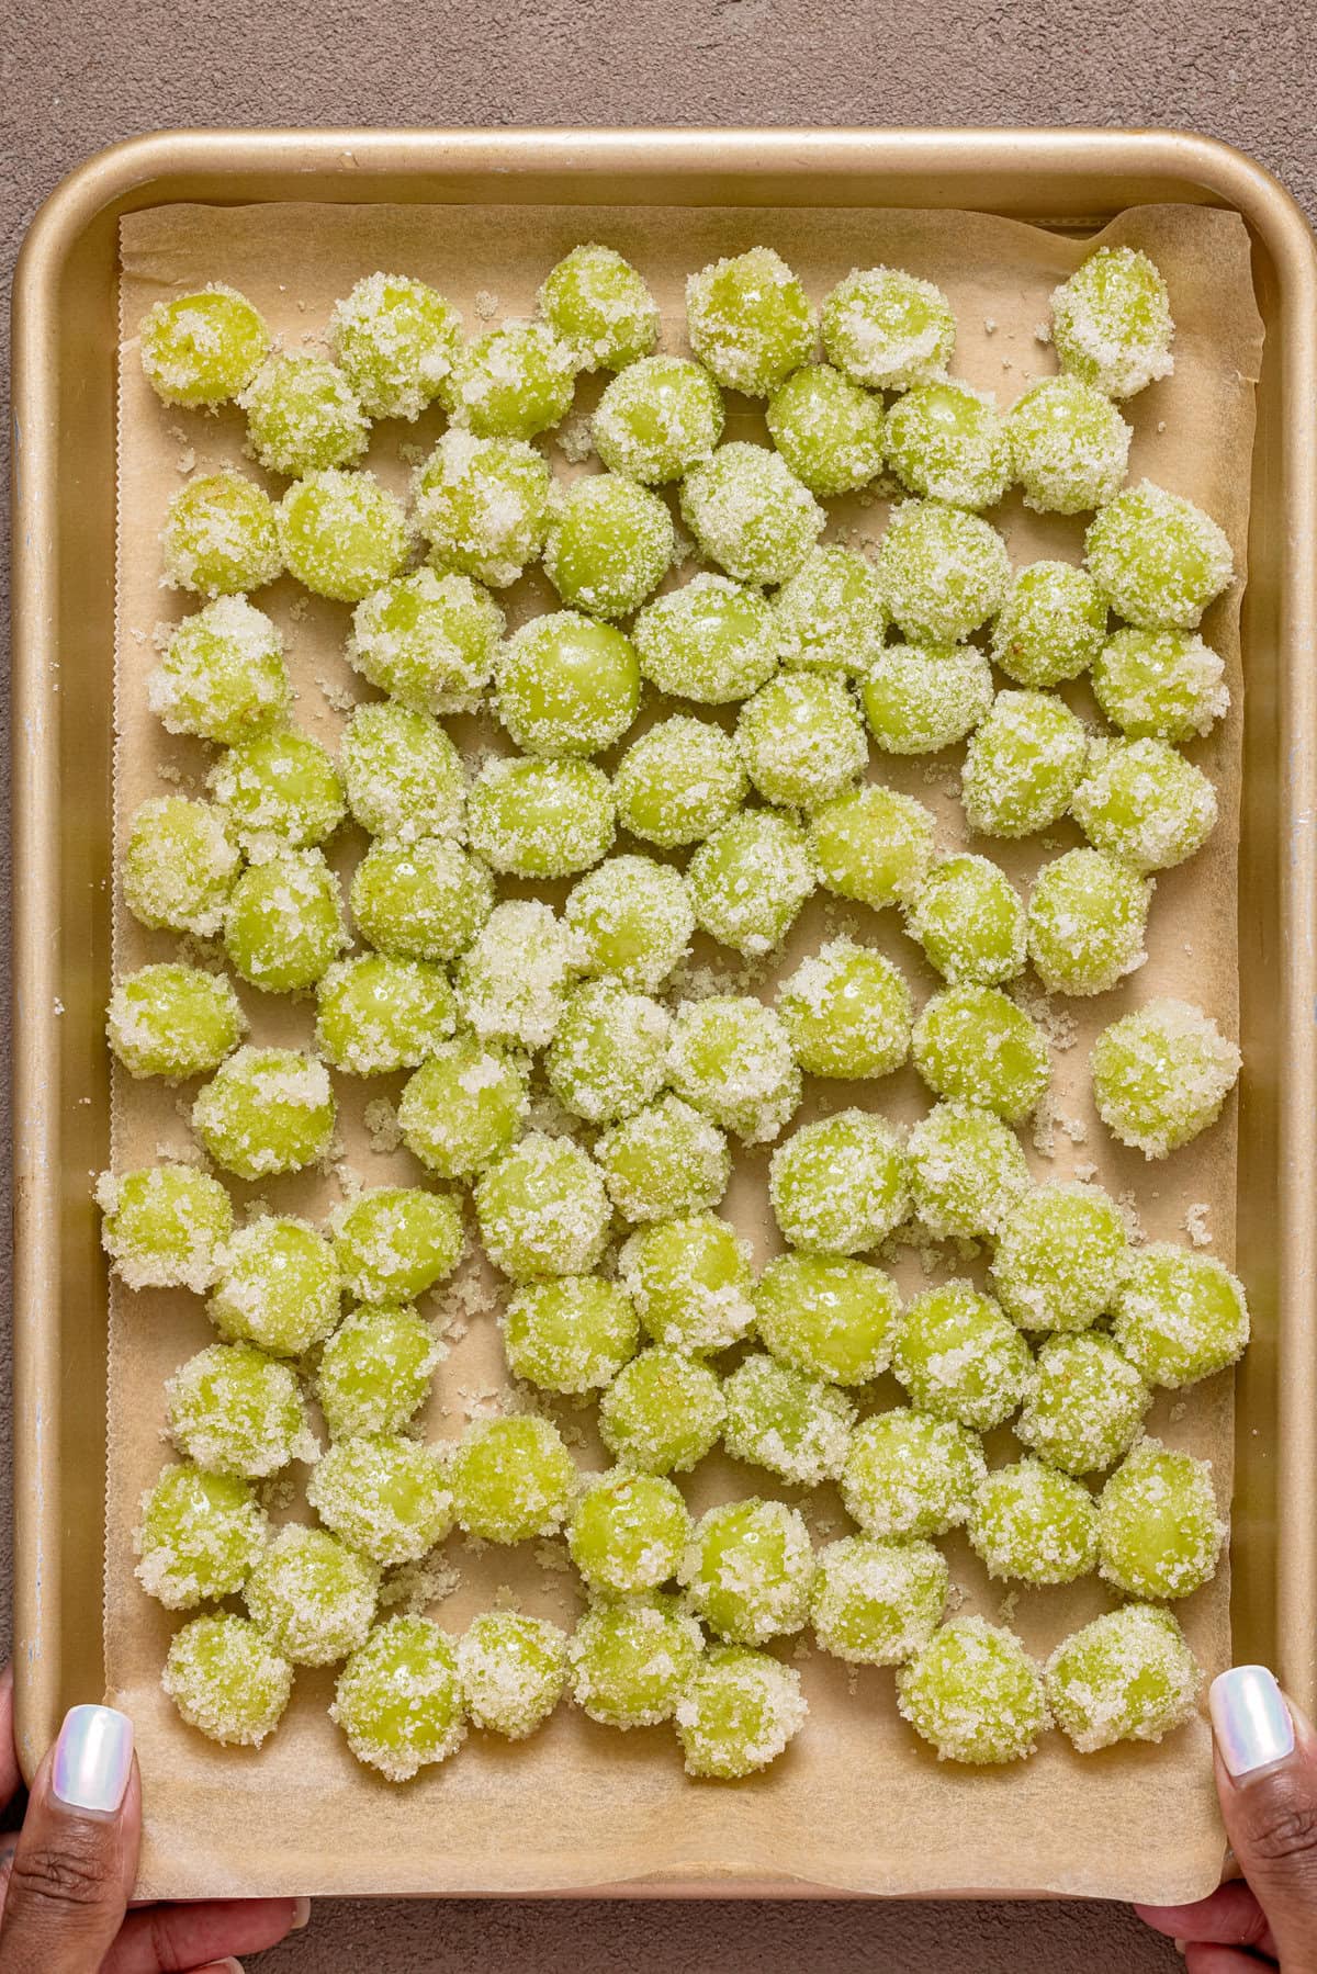
{"label": "sugared green grape at mid-height, nearly two-thirds across from left", "polygon": [[904,975],[855,940],[827,940],[802,959],[776,1005],[810,1076],[891,1076],[910,1052]]}

